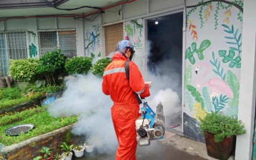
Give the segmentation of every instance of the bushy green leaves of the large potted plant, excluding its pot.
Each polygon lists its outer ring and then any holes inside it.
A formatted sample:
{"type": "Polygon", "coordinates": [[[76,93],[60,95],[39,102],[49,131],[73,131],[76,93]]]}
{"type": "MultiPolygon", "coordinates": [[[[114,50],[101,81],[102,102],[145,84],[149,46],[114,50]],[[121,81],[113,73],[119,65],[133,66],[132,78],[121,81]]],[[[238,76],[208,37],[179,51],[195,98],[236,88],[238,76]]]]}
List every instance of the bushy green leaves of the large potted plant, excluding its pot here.
{"type": "Polygon", "coordinates": [[[225,137],[246,134],[244,124],[236,117],[225,116],[220,113],[208,113],[204,119],[199,118],[202,134],[210,132],[215,137],[215,142],[220,143],[225,137]]]}

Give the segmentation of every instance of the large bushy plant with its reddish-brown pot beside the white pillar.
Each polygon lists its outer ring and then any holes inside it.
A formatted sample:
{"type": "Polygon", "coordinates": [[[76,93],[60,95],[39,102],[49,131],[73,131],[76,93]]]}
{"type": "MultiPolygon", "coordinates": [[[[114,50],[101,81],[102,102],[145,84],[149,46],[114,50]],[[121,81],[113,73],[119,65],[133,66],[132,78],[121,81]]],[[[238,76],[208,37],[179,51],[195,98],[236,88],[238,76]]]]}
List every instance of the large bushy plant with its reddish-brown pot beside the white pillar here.
{"type": "Polygon", "coordinates": [[[234,149],[236,135],[246,134],[244,124],[236,117],[220,113],[208,113],[199,118],[200,129],[205,136],[207,154],[217,159],[228,159],[234,149]]]}

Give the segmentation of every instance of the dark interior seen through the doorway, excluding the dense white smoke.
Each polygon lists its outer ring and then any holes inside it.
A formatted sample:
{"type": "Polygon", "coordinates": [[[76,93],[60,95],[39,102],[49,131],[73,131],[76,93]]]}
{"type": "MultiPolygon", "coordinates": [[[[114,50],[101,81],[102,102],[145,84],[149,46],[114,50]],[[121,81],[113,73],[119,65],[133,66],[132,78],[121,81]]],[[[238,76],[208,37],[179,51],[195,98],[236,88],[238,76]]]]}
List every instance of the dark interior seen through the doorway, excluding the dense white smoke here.
{"type": "MultiPolygon", "coordinates": [[[[155,76],[168,76],[170,87],[178,94],[181,102],[182,85],[182,49],[183,49],[183,12],[147,20],[147,41],[149,55],[147,69],[155,76]],[[155,22],[158,21],[158,24],[155,22]]],[[[171,95],[170,95],[171,96],[171,95]]],[[[168,127],[181,131],[181,104],[176,119],[168,127]]],[[[168,113],[167,113],[168,114],[168,113]]]]}

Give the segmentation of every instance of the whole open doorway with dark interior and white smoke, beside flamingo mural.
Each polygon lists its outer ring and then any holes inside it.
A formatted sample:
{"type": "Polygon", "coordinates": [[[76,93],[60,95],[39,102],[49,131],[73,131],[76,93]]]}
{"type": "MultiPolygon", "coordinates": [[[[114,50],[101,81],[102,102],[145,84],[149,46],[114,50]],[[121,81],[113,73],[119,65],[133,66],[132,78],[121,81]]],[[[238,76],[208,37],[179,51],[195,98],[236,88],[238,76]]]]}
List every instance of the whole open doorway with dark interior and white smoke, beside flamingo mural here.
{"type": "Polygon", "coordinates": [[[167,93],[159,99],[170,102],[163,104],[166,129],[182,132],[183,12],[149,18],[146,23],[147,71],[157,78],[154,85],[162,90],[157,92],[167,93]]]}

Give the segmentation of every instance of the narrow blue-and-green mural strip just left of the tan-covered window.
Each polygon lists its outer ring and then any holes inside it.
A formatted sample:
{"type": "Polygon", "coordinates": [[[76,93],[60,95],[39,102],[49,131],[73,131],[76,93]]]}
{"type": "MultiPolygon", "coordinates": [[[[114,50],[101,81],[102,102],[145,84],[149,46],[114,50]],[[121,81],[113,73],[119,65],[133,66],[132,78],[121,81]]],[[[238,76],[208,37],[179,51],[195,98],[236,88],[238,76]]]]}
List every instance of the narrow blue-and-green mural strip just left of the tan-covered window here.
{"type": "Polygon", "coordinates": [[[86,57],[101,57],[101,37],[99,23],[91,24],[85,33],[86,57]]]}

